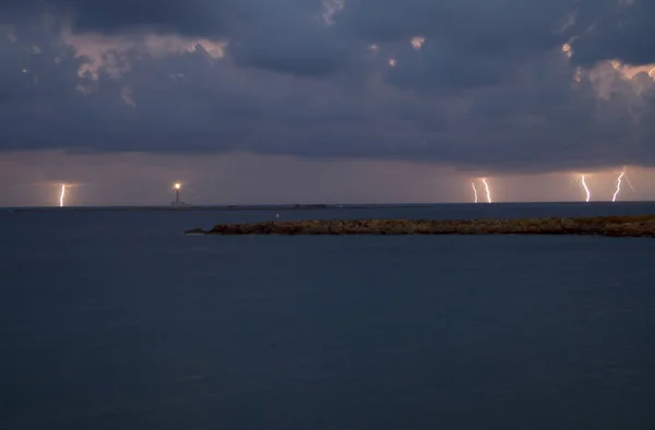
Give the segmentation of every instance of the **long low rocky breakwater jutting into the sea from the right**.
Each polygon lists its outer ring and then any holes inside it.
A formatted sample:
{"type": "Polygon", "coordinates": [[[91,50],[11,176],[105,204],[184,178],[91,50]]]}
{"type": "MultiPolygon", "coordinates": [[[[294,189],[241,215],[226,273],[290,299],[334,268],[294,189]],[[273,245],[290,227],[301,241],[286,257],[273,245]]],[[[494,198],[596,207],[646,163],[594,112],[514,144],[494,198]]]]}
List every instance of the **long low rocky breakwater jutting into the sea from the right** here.
{"type": "Polygon", "coordinates": [[[655,237],[655,215],[529,219],[332,219],[219,224],[199,235],[598,235],[655,237]]]}

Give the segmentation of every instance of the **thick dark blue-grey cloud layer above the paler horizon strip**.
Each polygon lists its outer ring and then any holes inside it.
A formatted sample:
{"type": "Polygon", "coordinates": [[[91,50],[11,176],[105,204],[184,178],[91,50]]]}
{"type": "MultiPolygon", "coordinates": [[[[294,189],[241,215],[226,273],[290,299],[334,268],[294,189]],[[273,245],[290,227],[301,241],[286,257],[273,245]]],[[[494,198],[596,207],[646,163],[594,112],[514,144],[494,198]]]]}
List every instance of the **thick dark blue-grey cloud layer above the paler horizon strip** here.
{"type": "Polygon", "coordinates": [[[653,13],[645,0],[4,1],[0,150],[655,166],[653,13]]]}

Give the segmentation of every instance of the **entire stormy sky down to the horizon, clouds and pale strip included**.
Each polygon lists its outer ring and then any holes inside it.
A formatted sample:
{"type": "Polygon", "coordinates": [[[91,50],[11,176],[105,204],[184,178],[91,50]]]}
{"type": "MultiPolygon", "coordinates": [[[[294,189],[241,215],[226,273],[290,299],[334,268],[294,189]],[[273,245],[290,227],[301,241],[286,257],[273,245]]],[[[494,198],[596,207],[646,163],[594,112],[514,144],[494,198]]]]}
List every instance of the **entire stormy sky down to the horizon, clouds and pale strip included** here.
{"type": "Polygon", "coordinates": [[[3,0],[0,205],[655,198],[646,0],[3,0]],[[74,198],[73,198],[74,196],[74,198]]]}

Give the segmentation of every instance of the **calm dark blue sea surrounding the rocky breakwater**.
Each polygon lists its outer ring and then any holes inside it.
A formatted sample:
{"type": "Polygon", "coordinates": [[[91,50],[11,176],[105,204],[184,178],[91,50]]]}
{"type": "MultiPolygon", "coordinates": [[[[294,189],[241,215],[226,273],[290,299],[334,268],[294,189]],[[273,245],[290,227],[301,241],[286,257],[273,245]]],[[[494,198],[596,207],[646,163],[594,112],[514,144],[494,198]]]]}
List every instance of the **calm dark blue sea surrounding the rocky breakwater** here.
{"type": "Polygon", "coordinates": [[[0,429],[654,429],[655,240],[186,236],[655,203],[0,210],[0,429]]]}

